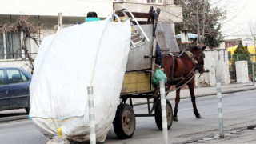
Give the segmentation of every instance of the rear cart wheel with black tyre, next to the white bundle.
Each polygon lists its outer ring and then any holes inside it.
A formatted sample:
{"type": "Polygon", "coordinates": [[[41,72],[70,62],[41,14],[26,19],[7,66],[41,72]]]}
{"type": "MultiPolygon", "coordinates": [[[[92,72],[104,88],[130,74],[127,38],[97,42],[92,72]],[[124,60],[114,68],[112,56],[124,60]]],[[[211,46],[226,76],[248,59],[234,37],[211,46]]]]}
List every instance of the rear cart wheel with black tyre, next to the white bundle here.
{"type": "Polygon", "coordinates": [[[114,133],[121,139],[131,138],[134,135],[135,125],[132,107],[127,104],[119,105],[113,122],[114,133]]]}

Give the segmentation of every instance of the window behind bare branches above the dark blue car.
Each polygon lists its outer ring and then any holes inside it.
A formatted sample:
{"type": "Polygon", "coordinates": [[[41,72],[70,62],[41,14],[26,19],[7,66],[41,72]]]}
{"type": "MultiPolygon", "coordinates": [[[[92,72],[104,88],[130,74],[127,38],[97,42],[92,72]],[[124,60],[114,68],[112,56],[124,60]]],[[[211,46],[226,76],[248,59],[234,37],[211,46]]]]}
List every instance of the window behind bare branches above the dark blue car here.
{"type": "MultiPolygon", "coordinates": [[[[0,59],[22,58],[22,38],[23,33],[19,32],[0,34],[0,59]]],[[[30,38],[26,40],[26,48],[31,51],[30,38]]]]}

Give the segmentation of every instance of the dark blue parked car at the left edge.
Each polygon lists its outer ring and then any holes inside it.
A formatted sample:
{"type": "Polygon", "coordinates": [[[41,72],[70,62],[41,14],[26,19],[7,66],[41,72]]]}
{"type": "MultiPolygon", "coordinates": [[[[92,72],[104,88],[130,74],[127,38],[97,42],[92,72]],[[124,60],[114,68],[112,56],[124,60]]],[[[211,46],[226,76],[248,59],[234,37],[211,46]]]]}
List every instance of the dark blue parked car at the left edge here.
{"type": "Polygon", "coordinates": [[[0,110],[30,109],[32,75],[22,68],[0,67],[0,110]]]}

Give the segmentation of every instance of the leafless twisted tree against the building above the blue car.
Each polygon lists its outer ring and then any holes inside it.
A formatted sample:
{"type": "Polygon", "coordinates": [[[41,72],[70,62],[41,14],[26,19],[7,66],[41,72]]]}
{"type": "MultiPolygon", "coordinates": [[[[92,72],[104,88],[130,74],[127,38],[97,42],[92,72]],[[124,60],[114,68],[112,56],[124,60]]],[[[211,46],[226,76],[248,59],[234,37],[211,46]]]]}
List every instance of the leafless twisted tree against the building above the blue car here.
{"type": "Polygon", "coordinates": [[[26,66],[29,66],[31,69],[31,73],[34,71],[34,58],[29,53],[29,50],[26,46],[26,41],[28,38],[33,40],[37,46],[39,46],[40,40],[40,29],[42,29],[42,24],[33,23],[29,21],[29,16],[20,16],[14,23],[6,22],[1,28],[1,33],[23,33],[22,44],[20,46],[20,50],[24,50],[25,58],[22,58],[22,54],[20,54],[22,60],[26,62],[26,66]],[[29,60],[29,63],[26,61],[29,60]]]}

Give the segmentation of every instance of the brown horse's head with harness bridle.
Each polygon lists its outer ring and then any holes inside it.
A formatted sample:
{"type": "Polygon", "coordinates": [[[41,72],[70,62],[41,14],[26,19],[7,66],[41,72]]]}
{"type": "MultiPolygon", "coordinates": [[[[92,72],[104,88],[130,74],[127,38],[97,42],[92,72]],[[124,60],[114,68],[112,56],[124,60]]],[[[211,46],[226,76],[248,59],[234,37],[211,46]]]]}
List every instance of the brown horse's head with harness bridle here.
{"type": "Polygon", "coordinates": [[[202,74],[205,71],[204,68],[204,61],[203,58],[205,58],[205,54],[203,53],[203,50],[206,49],[206,46],[203,46],[202,49],[198,48],[197,46],[190,48],[190,52],[194,55],[194,59],[198,61],[197,69],[200,74],[202,74]]]}

